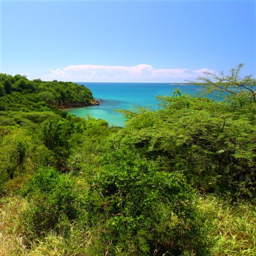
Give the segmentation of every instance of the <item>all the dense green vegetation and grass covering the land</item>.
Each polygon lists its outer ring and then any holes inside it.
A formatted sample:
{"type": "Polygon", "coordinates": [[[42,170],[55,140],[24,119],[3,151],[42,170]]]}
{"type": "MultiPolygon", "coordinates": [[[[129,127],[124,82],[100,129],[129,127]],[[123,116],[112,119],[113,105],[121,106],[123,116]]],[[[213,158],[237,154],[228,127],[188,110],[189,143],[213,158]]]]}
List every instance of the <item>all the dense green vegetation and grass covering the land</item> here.
{"type": "Polygon", "coordinates": [[[49,82],[14,77],[34,89],[8,91],[15,78],[1,75],[1,255],[254,255],[246,88],[223,102],[177,90],[158,97],[160,110],[122,110],[121,128],[54,108],[73,84],[51,82],[46,102],[35,96],[49,82]]]}

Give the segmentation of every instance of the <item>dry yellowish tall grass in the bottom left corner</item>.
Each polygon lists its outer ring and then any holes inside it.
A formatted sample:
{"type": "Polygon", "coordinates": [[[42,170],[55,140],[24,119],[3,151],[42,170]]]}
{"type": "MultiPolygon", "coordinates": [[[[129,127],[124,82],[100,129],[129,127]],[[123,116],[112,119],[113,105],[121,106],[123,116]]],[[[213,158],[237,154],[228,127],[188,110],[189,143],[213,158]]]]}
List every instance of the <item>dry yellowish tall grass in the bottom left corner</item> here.
{"type": "Polygon", "coordinates": [[[100,255],[101,230],[89,230],[79,224],[63,222],[63,232],[45,232],[38,238],[24,219],[29,210],[26,199],[18,196],[0,201],[0,256],[100,255]],[[69,230],[69,234],[66,234],[69,230]]]}

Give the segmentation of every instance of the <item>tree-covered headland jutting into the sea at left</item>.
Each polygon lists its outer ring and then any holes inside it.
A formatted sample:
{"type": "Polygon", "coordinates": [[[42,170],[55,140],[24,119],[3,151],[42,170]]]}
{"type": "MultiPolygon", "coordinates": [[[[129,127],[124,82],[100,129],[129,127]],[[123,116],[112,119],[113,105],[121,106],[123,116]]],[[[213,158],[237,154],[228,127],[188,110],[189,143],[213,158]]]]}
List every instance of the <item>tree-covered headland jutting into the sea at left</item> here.
{"type": "Polygon", "coordinates": [[[87,106],[92,104],[92,92],[71,82],[30,81],[22,75],[0,73],[0,111],[49,110],[51,106],[87,106]]]}

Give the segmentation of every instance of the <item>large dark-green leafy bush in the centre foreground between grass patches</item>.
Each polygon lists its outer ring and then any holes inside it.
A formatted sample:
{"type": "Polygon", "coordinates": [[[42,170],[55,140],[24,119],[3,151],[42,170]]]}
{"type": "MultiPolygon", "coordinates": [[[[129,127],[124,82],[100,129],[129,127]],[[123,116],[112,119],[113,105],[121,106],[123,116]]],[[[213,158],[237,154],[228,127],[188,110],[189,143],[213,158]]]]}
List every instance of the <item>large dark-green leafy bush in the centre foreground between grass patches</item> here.
{"type": "Polygon", "coordinates": [[[91,225],[104,226],[102,254],[207,252],[208,241],[191,204],[195,194],[181,174],[158,170],[125,147],[106,154],[103,163],[88,205],[91,225]]]}

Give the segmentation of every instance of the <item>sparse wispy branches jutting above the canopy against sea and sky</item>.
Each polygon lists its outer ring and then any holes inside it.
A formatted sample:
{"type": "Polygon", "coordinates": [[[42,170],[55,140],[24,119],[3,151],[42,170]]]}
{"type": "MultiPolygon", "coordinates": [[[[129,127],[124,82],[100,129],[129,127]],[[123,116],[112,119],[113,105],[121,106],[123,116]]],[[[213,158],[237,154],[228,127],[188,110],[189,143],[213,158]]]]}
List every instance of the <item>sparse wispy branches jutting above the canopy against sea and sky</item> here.
{"type": "Polygon", "coordinates": [[[248,102],[256,104],[256,85],[252,75],[241,77],[241,69],[244,64],[239,64],[237,67],[230,70],[230,75],[225,75],[212,72],[204,72],[205,77],[197,77],[198,82],[193,82],[199,86],[203,86],[204,95],[214,91],[227,92],[232,103],[238,102],[240,106],[244,106],[248,102]]]}

